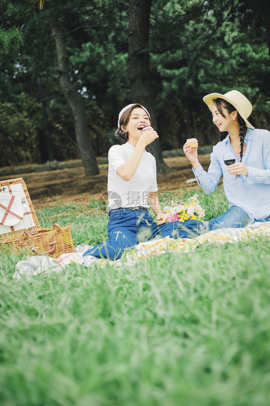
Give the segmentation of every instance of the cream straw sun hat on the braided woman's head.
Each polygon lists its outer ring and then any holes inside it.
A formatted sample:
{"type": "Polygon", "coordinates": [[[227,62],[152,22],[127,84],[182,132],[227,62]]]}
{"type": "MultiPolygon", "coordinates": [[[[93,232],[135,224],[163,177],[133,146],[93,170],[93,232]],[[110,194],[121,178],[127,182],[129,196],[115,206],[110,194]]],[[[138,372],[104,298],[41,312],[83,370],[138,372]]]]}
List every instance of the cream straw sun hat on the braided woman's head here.
{"type": "Polygon", "coordinates": [[[238,92],[237,90],[231,90],[230,92],[225,93],[225,95],[221,95],[220,93],[210,93],[209,95],[204,96],[203,100],[211,111],[214,105],[213,99],[217,98],[231,103],[245,121],[246,127],[254,129],[253,125],[247,121],[252,112],[252,105],[246,96],[242,95],[242,93],[238,92]]]}

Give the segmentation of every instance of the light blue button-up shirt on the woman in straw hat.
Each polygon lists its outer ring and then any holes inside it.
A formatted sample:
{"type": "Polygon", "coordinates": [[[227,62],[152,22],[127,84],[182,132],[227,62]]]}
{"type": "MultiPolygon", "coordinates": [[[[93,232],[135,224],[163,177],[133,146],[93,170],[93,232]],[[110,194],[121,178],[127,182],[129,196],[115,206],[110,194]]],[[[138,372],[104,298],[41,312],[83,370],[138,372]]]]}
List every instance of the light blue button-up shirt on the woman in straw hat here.
{"type": "MultiPolygon", "coordinates": [[[[213,147],[210,155],[211,163],[208,172],[202,166],[193,172],[198,184],[207,194],[212,193],[223,175],[223,186],[229,207],[241,207],[249,214],[250,222],[270,215],[270,132],[267,130],[251,130],[246,132],[246,151],[242,163],[249,169],[248,175],[229,174],[223,161],[223,154],[234,152],[229,134],[225,140],[213,147]]],[[[237,162],[237,160],[236,160],[237,162]]]]}

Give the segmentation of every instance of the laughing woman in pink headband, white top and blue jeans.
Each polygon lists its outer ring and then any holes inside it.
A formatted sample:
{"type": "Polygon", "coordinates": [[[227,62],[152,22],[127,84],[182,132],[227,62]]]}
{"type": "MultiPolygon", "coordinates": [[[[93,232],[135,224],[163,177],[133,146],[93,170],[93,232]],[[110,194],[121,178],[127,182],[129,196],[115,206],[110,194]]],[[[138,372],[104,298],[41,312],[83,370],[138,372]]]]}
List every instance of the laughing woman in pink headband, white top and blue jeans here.
{"type": "Polygon", "coordinates": [[[116,137],[122,145],[114,145],[109,150],[108,173],[108,236],[109,240],[94,246],[84,253],[95,257],[119,259],[125,248],[139,241],[152,238],[186,238],[199,233],[195,220],[179,222],[167,221],[163,214],[156,183],[156,160],[146,152],[158,134],[151,127],[150,114],[140,104],[129,104],[118,117],[116,137]],[[148,210],[156,214],[157,224],[148,210]]]}

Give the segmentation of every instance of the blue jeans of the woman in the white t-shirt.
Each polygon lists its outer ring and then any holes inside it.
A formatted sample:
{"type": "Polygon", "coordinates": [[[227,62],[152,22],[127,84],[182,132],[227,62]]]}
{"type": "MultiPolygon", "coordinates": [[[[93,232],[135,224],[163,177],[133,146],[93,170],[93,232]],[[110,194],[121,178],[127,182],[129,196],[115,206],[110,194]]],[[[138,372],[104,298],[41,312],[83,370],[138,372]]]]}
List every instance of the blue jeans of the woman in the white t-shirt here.
{"type": "Polygon", "coordinates": [[[84,253],[95,257],[119,259],[125,248],[130,248],[141,241],[152,238],[194,238],[205,232],[202,222],[186,220],[184,223],[174,221],[160,226],[156,225],[148,210],[125,210],[113,212],[107,225],[109,241],[102,242],[84,253]],[[204,230],[204,231],[202,231],[204,230]]]}

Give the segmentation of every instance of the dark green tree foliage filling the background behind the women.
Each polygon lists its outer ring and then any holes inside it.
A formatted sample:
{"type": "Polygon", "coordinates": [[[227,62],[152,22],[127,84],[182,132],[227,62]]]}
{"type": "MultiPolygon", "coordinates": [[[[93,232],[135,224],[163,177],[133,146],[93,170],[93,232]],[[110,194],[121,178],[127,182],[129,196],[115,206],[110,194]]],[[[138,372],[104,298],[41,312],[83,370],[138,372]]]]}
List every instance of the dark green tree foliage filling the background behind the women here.
{"type": "MultiPolygon", "coordinates": [[[[116,143],[118,112],[133,102],[128,71],[128,6],[128,2],[111,0],[0,2],[2,109],[8,108],[6,103],[14,104],[12,116],[4,112],[9,117],[10,125],[4,122],[9,138],[13,138],[13,127],[22,117],[32,120],[32,143],[42,138],[43,117],[41,111],[36,112],[37,79],[42,78],[56,159],[79,157],[50,35],[51,28],[59,23],[66,34],[70,78],[88,111],[94,151],[107,155],[116,143]],[[33,106],[28,108],[35,110],[34,115],[26,108],[22,114],[21,93],[30,95],[33,106]]],[[[211,114],[202,102],[202,97],[213,91],[241,91],[254,106],[251,122],[259,128],[270,128],[267,31],[260,13],[246,2],[153,0],[147,51],[162,149],[180,148],[186,138],[194,136],[200,138],[200,145],[220,140],[217,129],[209,130],[211,114]]],[[[22,128],[29,125],[23,123],[22,128]]],[[[33,162],[33,154],[24,145],[20,163],[33,162]]],[[[45,149],[40,142],[34,162],[47,160],[45,149]]]]}

